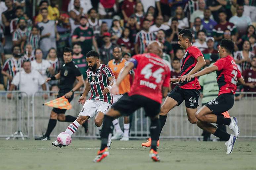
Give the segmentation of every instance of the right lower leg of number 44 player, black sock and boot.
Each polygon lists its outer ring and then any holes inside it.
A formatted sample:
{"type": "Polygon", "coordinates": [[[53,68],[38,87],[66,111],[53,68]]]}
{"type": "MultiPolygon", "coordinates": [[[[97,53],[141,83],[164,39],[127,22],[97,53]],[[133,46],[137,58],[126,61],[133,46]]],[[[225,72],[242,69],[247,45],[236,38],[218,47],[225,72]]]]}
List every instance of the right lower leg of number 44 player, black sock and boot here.
{"type": "Polygon", "coordinates": [[[149,157],[153,161],[160,161],[158,152],[156,151],[157,139],[160,132],[160,121],[157,117],[151,118],[150,135],[151,135],[151,149],[149,151],[149,157]]]}

